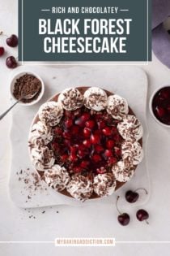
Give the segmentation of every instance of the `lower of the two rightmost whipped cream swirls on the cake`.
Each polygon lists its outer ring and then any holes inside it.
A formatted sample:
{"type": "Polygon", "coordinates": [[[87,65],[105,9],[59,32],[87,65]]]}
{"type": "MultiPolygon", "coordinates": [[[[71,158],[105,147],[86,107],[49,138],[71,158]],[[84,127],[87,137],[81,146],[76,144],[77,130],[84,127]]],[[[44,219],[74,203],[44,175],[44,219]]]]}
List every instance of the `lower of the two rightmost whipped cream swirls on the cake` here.
{"type": "Polygon", "coordinates": [[[132,165],[138,165],[143,158],[142,146],[138,141],[124,141],[121,144],[121,156],[124,161],[131,162],[132,165]]]}

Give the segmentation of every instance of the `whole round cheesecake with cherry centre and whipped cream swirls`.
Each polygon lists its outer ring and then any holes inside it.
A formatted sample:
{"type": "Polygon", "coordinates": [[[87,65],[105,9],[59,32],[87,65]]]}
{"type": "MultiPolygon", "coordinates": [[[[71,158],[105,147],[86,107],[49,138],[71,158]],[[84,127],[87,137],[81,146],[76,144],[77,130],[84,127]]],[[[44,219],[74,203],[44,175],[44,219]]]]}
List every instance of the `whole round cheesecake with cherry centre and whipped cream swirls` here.
{"type": "Polygon", "coordinates": [[[57,192],[84,202],[106,197],[142,161],[142,124],[121,96],[97,87],[65,89],[40,106],[29,149],[57,192]]]}

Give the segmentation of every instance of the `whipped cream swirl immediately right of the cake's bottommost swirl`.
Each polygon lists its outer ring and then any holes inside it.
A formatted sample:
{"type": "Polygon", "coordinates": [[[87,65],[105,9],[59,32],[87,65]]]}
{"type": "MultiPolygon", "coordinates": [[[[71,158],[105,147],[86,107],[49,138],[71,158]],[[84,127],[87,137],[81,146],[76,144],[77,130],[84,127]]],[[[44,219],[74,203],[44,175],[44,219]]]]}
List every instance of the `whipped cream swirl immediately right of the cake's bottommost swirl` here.
{"type": "Polygon", "coordinates": [[[115,191],[116,185],[113,173],[98,174],[93,182],[94,191],[100,197],[111,195],[115,191]]]}

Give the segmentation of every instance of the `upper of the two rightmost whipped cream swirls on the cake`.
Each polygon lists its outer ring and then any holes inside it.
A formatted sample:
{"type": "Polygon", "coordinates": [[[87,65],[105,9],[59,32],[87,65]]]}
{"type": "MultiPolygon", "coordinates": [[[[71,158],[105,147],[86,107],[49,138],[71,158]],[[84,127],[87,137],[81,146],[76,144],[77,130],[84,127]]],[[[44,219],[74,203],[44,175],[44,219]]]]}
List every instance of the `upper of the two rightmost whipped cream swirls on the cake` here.
{"type": "Polygon", "coordinates": [[[142,124],[135,115],[125,115],[117,129],[125,140],[140,140],[142,138],[142,124]]]}

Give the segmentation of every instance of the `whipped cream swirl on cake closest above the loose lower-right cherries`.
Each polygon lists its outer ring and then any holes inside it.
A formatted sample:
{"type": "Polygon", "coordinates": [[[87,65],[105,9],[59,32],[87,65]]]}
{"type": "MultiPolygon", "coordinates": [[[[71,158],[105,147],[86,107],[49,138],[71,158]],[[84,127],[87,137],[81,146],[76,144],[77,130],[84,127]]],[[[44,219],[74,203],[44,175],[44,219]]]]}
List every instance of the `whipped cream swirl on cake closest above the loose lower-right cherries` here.
{"type": "Polygon", "coordinates": [[[134,176],[134,166],[122,160],[113,165],[112,171],[116,180],[120,182],[126,182],[134,176]]]}

